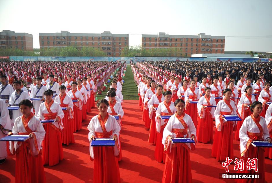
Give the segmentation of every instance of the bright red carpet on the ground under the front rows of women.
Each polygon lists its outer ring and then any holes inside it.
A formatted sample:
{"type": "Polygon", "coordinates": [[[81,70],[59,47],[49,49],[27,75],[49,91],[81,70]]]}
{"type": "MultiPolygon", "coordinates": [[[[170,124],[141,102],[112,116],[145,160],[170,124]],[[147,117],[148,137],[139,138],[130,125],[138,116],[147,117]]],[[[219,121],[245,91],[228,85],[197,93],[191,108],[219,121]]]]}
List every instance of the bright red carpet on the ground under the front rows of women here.
{"type": "MultiPolygon", "coordinates": [[[[148,143],[148,132],[141,121],[142,112],[137,100],[125,100],[125,116],[122,119],[122,161],[120,176],[122,182],[161,182],[164,164],[154,158],[155,146],[148,143]]],[[[82,129],[74,133],[75,144],[63,146],[64,160],[54,167],[45,166],[47,182],[92,182],[93,162],[89,159],[89,142],[87,125],[98,110],[92,109],[88,119],[84,120],[82,129]]],[[[239,157],[238,141],[234,142],[234,156],[239,157]]],[[[198,143],[196,150],[190,152],[193,182],[234,182],[219,179],[219,173],[225,168],[211,157],[212,144],[198,143]]],[[[230,173],[235,173],[233,164],[230,173]]],[[[265,180],[272,182],[272,161],[265,159],[265,180]]],[[[0,182],[14,182],[15,157],[9,157],[0,165],[0,182]]]]}

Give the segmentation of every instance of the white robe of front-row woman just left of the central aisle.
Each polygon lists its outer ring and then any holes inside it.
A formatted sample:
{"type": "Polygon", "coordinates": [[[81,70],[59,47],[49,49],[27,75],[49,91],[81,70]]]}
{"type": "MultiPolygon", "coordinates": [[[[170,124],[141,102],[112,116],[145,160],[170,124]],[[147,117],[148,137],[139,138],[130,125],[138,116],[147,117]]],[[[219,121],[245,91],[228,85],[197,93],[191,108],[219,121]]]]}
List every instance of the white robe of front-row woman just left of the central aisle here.
{"type": "MultiPolygon", "coordinates": [[[[95,132],[103,133],[102,127],[101,127],[100,122],[98,120],[98,115],[93,116],[93,118],[91,119],[87,128],[90,131],[88,134],[88,139],[90,142],[90,157],[92,159],[94,159],[95,157],[93,154],[93,146],[91,146],[91,138],[92,138],[92,136],[97,138],[95,135],[95,132]]],[[[113,136],[116,135],[117,139],[119,139],[121,128],[120,128],[120,125],[118,124],[118,122],[116,121],[114,116],[109,115],[109,118],[107,119],[107,121],[105,123],[105,128],[106,128],[107,132],[112,131],[112,135],[110,135],[110,138],[113,138],[113,136]]],[[[118,140],[118,143],[119,143],[119,140],[118,140]]],[[[117,144],[115,144],[115,146],[114,146],[114,155],[115,156],[118,156],[118,154],[119,154],[118,147],[120,147],[120,145],[117,146],[117,144]]]]}

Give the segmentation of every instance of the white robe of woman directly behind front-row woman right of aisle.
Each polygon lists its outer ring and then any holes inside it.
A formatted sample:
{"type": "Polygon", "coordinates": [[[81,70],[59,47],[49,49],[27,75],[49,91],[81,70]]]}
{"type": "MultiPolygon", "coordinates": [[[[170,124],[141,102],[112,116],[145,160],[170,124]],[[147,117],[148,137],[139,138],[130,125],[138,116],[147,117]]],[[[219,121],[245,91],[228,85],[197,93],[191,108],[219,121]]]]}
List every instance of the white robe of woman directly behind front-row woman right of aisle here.
{"type": "MultiPolygon", "coordinates": [[[[174,112],[177,111],[176,107],[174,106],[174,102],[172,102],[172,101],[171,101],[171,104],[170,104],[169,108],[170,108],[170,110],[171,110],[171,112],[173,114],[174,114],[174,112]]],[[[161,126],[166,123],[165,119],[159,118],[159,116],[163,116],[163,115],[161,115],[162,112],[163,113],[169,113],[168,110],[167,110],[167,108],[164,105],[164,102],[159,103],[158,109],[156,111],[156,116],[155,116],[156,129],[157,129],[158,133],[161,132],[161,126]]]]}

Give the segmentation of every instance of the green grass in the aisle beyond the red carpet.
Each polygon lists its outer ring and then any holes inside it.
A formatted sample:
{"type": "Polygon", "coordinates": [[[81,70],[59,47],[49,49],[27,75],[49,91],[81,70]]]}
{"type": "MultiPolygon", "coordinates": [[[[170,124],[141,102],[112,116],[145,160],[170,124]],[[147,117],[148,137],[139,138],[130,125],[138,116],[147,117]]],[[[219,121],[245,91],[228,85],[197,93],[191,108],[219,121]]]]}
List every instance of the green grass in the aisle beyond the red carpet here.
{"type": "MultiPolygon", "coordinates": [[[[138,89],[137,89],[137,86],[135,85],[134,76],[133,76],[130,65],[126,66],[124,81],[125,82],[122,87],[123,88],[122,94],[123,94],[124,100],[138,100],[139,99],[138,89]]],[[[107,88],[109,87],[110,87],[110,83],[107,83],[107,88]]],[[[107,91],[108,90],[106,89],[105,91],[102,92],[102,95],[96,95],[98,100],[104,99],[107,91]]]]}

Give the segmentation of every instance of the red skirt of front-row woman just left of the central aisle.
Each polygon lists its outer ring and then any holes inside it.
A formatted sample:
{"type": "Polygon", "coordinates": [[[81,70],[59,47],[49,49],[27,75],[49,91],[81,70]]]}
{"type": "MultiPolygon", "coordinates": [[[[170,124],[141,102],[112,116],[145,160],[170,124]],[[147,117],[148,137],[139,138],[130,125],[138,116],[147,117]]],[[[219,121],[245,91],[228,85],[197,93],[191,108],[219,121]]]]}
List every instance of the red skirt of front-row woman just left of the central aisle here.
{"type": "Polygon", "coordinates": [[[117,157],[114,156],[113,147],[94,147],[93,155],[93,182],[121,182],[119,164],[117,157]]]}

